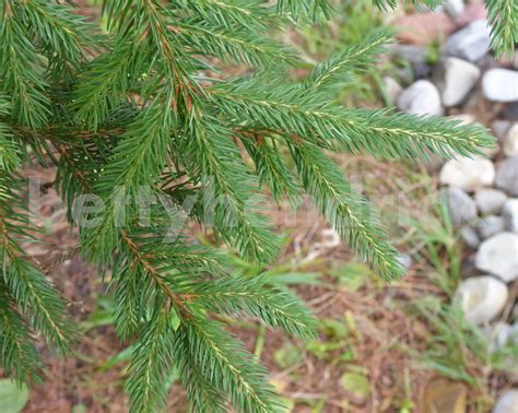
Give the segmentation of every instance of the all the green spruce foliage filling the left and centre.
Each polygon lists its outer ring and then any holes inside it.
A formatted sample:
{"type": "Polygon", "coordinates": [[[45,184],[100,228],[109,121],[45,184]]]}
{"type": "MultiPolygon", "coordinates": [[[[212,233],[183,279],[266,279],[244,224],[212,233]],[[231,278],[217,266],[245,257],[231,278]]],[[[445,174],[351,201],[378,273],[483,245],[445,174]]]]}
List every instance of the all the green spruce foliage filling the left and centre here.
{"type": "MultiPolygon", "coordinates": [[[[501,3],[491,0],[490,10],[501,3]]],[[[499,51],[516,40],[507,3],[491,13],[499,51]]],[[[0,0],[1,367],[37,381],[36,337],[73,349],[63,298],[23,249],[38,239],[21,173],[35,162],[57,166],[81,251],[109,272],[117,331],[133,343],[132,411],[164,406],[173,369],[195,411],[281,409],[267,371],[213,315],[249,315],[302,339],[314,335],[315,321],[267,274],[235,276],[217,249],[189,240],[179,229],[186,214],[243,257],[268,263],[279,240],[259,212],[261,193],[296,204],[306,192],[364,260],[393,279],[396,250],[327,153],[469,155],[491,138],[450,120],[335,104],[333,91],[390,42],[385,32],[293,81],[297,55],[275,34],[329,15],[327,0],[109,0],[105,31],[73,7],[0,0]],[[222,62],[247,70],[229,76],[222,62]],[[145,220],[136,202],[142,193],[152,200],[145,220]],[[84,196],[103,208],[81,209],[84,196]]]]}

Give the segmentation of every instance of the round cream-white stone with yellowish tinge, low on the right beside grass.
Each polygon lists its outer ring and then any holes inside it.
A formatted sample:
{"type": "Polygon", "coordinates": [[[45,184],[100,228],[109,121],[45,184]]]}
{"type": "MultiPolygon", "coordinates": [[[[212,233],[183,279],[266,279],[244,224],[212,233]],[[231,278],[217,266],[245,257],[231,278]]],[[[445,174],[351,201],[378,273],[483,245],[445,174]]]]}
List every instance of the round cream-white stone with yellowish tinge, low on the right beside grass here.
{"type": "Polygon", "coordinates": [[[509,296],[507,286],[490,275],[463,280],[455,292],[454,300],[460,305],[466,318],[483,324],[494,319],[509,296]]]}

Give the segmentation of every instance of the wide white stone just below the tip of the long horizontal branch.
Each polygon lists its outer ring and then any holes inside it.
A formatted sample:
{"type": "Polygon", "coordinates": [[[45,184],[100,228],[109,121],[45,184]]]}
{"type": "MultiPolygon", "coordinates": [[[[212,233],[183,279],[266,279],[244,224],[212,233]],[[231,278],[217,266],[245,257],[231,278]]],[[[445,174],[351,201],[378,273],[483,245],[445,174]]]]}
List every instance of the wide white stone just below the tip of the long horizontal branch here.
{"type": "Polygon", "coordinates": [[[495,167],[484,157],[459,157],[448,161],[440,169],[439,181],[454,188],[474,191],[491,187],[495,180],[495,167]]]}

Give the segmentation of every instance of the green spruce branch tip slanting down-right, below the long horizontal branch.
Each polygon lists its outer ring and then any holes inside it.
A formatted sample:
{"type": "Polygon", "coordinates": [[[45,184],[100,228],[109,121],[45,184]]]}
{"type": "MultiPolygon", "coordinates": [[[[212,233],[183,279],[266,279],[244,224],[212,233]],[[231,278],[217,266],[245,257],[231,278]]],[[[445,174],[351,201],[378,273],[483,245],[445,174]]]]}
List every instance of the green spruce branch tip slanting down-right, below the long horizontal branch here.
{"type": "Polygon", "coordinates": [[[368,203],[354,193],[338,166],[310,143],[298,142],[291,149],[304,188],[320,212],[329,214],[332,227],[381,276],[399,278],[402,269],[397,251],[388,244],[368,203]]]}

